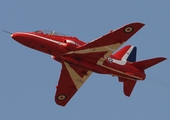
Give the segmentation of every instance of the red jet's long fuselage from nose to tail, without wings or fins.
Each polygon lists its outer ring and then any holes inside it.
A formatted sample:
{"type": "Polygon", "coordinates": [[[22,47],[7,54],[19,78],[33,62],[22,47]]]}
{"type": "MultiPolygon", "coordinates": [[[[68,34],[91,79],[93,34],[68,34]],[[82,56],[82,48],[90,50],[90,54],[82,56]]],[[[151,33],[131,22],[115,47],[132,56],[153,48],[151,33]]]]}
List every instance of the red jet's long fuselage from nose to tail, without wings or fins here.
{"type": "Polygon", "coordinates": [[[11,37],[29,48],[52,55],[52,58],[58,62],[64,60],[65,62],[100,74],[110,74],[132,80],[145,79],[143,70],[135,68],[131,62],[114,58],[113,55],[107,58],[102,64],[100,64],[100,61],[96,63],[92,59],[88,59],[88,57],[87,59],[61,57],[61,55],[74,51],[76,48],[86,44],[76,37],[59,35],[54,31],[16,32],[13,33],[11,37]]]}

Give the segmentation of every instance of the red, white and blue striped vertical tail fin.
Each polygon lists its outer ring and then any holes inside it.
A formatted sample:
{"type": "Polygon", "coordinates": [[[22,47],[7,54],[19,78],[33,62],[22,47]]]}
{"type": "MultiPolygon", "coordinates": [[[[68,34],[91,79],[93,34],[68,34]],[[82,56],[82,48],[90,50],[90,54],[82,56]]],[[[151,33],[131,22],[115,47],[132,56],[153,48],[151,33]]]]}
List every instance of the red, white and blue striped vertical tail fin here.
{"type": "Polygon", "coordinates": [[[127,45],[116,52],[113,56],[117,59],[136,62],[136,51],[137,48],[135,46],[127,45]]]}

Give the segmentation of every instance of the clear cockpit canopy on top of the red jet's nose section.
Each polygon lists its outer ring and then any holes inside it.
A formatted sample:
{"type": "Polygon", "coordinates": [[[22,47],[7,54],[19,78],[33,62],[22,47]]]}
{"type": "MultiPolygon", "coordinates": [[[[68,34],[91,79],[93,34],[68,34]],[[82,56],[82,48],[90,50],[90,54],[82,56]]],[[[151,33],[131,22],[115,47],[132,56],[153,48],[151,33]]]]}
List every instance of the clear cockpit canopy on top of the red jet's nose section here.
{"type": "Polygon", "coordinates": [[[68,36],[68,35],[65,35],[65,34],[62,34],[56,31],[52,31],[52,30],[37,30],[35,32],[39,34],[45,34],[45,35],[68,36]]]}

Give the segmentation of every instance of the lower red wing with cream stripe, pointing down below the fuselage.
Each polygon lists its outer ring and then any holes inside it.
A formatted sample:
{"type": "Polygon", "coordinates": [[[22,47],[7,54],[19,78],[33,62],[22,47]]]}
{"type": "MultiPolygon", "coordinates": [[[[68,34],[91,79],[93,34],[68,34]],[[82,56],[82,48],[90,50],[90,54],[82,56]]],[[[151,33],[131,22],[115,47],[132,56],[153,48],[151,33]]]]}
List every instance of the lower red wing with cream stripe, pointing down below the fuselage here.
{"type": "Polygon", "coordinates": [[[83,83],[88,79],[91,73],[91,71],[84,68],[63,62],[61,75],[55,94],[55,102],[58,105],[65,106],[83,85],[83,83]]]}

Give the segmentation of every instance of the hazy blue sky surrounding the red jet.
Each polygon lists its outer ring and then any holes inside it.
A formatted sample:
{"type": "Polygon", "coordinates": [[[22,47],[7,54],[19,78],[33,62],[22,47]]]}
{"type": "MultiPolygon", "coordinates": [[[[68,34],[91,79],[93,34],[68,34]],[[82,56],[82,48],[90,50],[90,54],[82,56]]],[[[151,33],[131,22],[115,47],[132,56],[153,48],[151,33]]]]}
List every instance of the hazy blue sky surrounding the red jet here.
{"type": "Polygon", "coordinates": [[[130,98],[117,77],[92,74],[65,107],[54,102],[61,65],[0,32],[0,120],[169,120],[169,0],[1,0],[0,29],[56,30],[89,42],[132,22],[137,60],[165,56],[130,98]]]}

